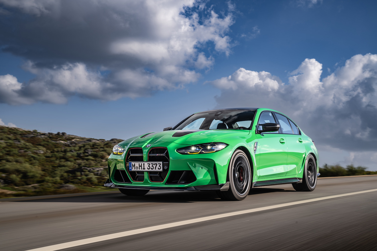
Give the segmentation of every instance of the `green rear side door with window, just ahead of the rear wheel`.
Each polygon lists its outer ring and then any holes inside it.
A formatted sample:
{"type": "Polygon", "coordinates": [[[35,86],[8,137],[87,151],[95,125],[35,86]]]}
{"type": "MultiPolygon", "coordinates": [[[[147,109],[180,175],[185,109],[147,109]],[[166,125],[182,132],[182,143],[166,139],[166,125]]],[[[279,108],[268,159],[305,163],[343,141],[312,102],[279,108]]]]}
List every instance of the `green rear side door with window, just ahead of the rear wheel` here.
{"type": "Polygon", "coordinates": [[[279,121],[280,130],[284,134],[287,142],[288,158],[287,173],[285,175],[296,175],[300,172],[305,157],[305,146],[300,131],[290,119],[282,114],[275,113],[275,117],[279,121]]]}

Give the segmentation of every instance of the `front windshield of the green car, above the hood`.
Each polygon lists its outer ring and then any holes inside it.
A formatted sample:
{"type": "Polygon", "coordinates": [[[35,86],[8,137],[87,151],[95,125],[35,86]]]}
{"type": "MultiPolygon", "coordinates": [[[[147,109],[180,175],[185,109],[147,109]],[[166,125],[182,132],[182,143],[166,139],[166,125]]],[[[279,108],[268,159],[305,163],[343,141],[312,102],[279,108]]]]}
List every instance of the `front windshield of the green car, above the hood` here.
{"type": "Polygon", "coordinates": [[[174,130],[249,129],[255,111],[222,110],[196,113],[174,130]]]}

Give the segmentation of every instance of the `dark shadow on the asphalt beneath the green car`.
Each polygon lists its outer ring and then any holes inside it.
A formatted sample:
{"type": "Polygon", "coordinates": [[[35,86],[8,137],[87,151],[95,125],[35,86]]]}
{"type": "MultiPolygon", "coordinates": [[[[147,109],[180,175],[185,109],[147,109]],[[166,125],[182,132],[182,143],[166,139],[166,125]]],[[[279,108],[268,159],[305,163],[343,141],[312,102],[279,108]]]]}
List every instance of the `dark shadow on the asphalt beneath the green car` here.
{"type": "MultiPolygon", "coordinates": [[[[249,195],[273,192],[293,192],[276,188],[253,188],[249,195]]],[[[158,202],[158,203],[192,203],[201,201],[222,201],[215,191],[150,191],[144,196],[126,196],[122,193],[107,193],[99,195],[82,195],[59,198],[30,199],[15,202],[92,202],[92,203],[135,203],[135,202],[158,202]]]]}

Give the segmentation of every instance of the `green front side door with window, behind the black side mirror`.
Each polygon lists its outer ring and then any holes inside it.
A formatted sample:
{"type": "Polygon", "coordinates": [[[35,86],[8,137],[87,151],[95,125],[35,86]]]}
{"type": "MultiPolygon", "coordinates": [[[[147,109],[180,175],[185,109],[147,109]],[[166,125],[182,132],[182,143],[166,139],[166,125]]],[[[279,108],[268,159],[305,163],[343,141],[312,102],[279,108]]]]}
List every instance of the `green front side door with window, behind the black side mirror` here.
{"type": "MultiPolygon", "coordinates": [[[[258,119],[258,125],[276,122],[273,113],[265,111],[258,119]]],[[[259,126],[257,126],[259,127],[259,126]]],[[[287,144],[285,136],[279,132],[256,134],[258,145],[255,152],[259,179],[275,178],[287,173],[287,144]]]]}

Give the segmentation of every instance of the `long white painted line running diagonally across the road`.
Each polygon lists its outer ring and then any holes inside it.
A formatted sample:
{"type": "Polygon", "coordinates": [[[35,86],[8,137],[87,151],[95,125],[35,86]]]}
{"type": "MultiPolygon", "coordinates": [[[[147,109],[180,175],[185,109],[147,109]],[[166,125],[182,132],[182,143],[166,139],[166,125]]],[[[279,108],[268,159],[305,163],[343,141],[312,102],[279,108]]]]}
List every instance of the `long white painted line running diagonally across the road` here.
{"type": "Polygon", "coordinates": [[[139,228],[139,229],[119,232],[119,233],[115,233],[115,234],[106,234],[106,235],[103,235],[103,236],[97,236],[97,237],[92,237],[92,238],[87,238],[87,239],[82,239],[82,240],[74,240],[72,242],[65,242],[65,243],[60,243],[60,244],[56,244],[56,245],[45,246],[45,247],[42,247],[42,248],[29,249],[29,250],[26,250],[26,251],[55,251],[55,250],[60,250],[60,249],[64,249],[64,248],[73,248],[75,246],[86,245],[86,244],[90,244],[90,243],[94,243],[94,242],[101,242],[101,241],[104,241],[104,240],[111,240],[111,239],[115,239],[115,238],[131,236],[131,235],[135,235],[135,234],[147,233],[147,232],[150,232],[150,231],[156,231],[156,230],[161,230],[161,229],[166,229],[166,228],[171,228],[171,227],[178,227],[178,226],[183,226],[183,225],[188,225],[188,224],[193,224],[193,223],[198,223],[198,222],[203,222],[203,221],[210,221],[210,220],[225,218],[225,217],[229,217],[229,216],[235,216],[235,215],[240,215],[240,214],[245,214],[245,213],[254,213],[254,212],[270,210],[270,209],[274,209],[274,208],[288,207],[288,206],[291,206],[291,205],[304,204],[304,203],[314,202],[314,201],[323,201],[325,199],[333,199],[333,198],[356,195],[356,194],[360,194],[360,193],[376,192],[376,191],[377,191],[377,189],[371,189],[371,190],[364,190],[364,191],[360,191],[360,192],[343,193],[343,194],[340,194],[340,195],[331,195],[331,196],[320,197],[320,198],[315,198],[315,199],[305,199],[303,201],[295,201],[295,202],[289,202],[289,203],[284,203],[284,204],[272,205],[272,206],[268,206],[268,207],[259,207],[259,208],[247,209],[247,210],[236,211],[236,212],[231,212],[231,213],[222,213],[222,214],[217,214],[217,215],[212,215],[212,216],[190,219],[190,220],[186,220],[186,221],[178,221],[178,222],[173,222],[173,223],[168,223],[168,224],[157,225],[157,226],[153,226],[153,227],[139,228]]]}

